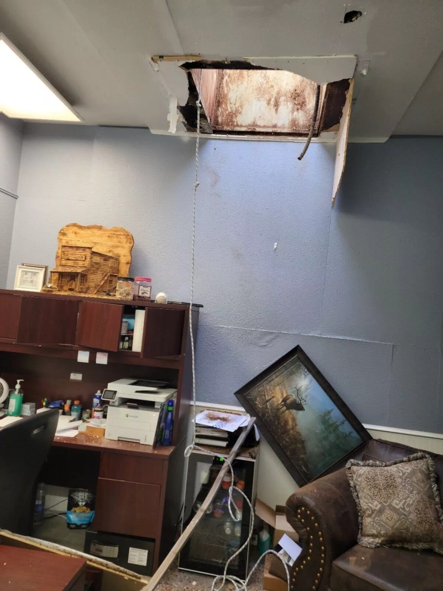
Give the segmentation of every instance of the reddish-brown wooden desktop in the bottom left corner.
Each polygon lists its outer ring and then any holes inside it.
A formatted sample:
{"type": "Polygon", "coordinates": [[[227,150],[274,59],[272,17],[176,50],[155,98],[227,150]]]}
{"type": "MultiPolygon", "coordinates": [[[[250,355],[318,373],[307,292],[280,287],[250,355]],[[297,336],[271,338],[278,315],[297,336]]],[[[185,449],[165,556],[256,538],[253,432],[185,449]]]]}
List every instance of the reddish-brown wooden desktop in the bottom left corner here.
{"type": "Polygon", "coordinates": [[[85,573],[82,558],[0,544],[0,589],[83,591],[85,573]]]}

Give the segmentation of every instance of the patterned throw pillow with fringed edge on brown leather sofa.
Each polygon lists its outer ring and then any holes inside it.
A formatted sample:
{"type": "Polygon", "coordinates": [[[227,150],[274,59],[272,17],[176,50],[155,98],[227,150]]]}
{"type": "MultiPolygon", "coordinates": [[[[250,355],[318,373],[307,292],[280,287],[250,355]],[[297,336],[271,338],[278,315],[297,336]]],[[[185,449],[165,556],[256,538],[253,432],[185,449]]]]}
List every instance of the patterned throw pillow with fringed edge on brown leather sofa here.
{"type": "Polygon", "coordinates": [[[443,554],[443,511],[428,454],[387,463],[349,460],[346,471],[359,512],[360,545],[443,554]]]}

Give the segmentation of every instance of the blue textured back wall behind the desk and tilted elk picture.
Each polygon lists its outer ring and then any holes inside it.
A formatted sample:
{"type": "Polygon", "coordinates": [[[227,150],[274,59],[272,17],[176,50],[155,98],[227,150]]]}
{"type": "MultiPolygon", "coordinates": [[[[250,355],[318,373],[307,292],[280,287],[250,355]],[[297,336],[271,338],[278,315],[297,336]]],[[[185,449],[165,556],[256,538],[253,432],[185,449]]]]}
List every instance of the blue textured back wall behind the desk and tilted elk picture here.
{"type": "MultiPolygon", "coordinates": [[[[53,265],[66,223],[121,225],[133,274],[187,301],[194,141],[27,125],[8,283],[53,265]]],[[[197,397],[233,392],[298,343],[364,423],[442,430],[443,139],[334,147],[202,141],[197,397]],[[274,243],[277,247],[274,250],[274,243]]]]}

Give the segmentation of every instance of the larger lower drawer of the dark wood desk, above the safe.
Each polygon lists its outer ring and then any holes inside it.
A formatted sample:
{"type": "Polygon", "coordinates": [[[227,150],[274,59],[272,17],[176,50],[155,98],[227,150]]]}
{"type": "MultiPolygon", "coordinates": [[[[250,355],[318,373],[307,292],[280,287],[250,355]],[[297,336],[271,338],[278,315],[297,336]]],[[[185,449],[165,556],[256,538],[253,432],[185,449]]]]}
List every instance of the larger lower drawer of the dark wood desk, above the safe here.
{"type": "Polygon", "coordinates": [[[157,534],[161,486],[99,478],[96,530],[153,538],[157,534]]]}

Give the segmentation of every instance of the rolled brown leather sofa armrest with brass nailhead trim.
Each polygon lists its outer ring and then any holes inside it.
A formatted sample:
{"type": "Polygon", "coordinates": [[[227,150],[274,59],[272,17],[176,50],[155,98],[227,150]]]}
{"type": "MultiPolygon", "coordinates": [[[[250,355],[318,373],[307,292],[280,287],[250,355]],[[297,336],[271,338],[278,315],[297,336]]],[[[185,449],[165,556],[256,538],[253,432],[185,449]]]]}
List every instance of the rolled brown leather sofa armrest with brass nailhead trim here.
{"type": "Polygon", "coordinates": [[[303,486],[286,501],[286,518],[302,544],[291,590],[327,591],[333,560],[357,543],[359,518],[346,469],[303,486]]]}

